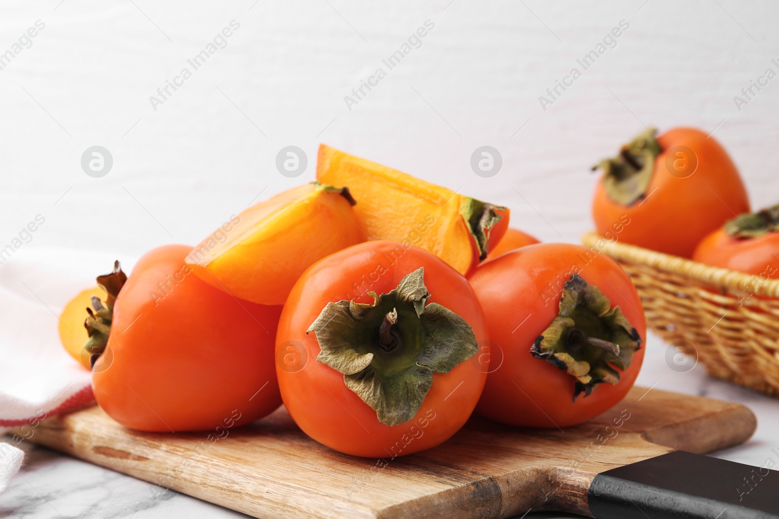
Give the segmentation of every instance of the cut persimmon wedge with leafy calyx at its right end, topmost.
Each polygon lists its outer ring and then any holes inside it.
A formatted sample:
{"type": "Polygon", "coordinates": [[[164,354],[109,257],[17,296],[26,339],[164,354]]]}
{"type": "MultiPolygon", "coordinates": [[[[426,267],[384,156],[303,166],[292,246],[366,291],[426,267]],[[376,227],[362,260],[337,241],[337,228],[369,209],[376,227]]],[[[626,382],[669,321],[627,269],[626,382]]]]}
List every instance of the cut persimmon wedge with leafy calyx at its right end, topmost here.
{"type": "Polygon", "coordinates": [[[509,226],[509,210],[319,146],[316,178],[348,185],[369,240],[391,240],[432,252],[466,275],[487,257],[509,226]]]}

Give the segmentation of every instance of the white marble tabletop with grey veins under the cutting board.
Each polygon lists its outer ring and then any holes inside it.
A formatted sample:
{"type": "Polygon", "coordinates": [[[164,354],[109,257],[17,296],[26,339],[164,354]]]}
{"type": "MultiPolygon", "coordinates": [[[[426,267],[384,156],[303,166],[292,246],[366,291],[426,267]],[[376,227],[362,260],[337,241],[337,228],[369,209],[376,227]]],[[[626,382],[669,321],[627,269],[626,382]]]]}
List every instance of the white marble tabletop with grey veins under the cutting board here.
{"type": "MultiPolygon", "coordinates": [[[[702,366],[678,373],[666,364],[659,338],[650,337],[639,384],[689,395],[740,402],[758,418],[755,435],[746,444],[714,453],[718,458],[762,465],[779,450],[779,399],[707,377],[702,366]]],[[[26,466],[5,493],[0,494],[0,517],[55,519],[58,517],[115,517],[116,519],[175,519],[178,517],[246,517],[226,508],[139,481],[33,445],[26,466]]],[[[530,512],[526,519],[578,517],[530,512]]]]}

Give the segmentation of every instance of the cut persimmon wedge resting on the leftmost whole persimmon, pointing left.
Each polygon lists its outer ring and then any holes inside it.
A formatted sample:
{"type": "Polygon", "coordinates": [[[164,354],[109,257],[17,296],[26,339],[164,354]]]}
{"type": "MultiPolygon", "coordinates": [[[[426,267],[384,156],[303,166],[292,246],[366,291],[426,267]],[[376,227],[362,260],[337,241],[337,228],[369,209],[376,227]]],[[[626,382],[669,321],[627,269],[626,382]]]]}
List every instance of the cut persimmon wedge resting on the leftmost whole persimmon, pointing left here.
{"type": "Polygon", "coordinates": [[[235,297],[284,304],[310,265],[365,241],[347,188],[305,184],[252,205],[192,249],[186,263],[235,297]]]}

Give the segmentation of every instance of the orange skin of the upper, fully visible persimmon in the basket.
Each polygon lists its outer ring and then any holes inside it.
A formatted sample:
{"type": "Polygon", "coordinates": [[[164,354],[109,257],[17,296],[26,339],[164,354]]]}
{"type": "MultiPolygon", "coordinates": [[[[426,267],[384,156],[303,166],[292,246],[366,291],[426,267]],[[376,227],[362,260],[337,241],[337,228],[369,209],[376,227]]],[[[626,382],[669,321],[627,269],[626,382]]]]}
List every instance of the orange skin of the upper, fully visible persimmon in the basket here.
{"type": "Polygon", "coordinates": [[[593,219],[601,235],[623,225],[619,239],[628,244],[690,258],[708,233],[749,212],[749,198],[733,161],[713,137],[695,128],[674,128],[657,141],[663,151],[655,159],[644,197],[629,206],[613,202],[601,177],[593,219]],[[686,146],[697,156],[697,168],[689,177],[674,176],[668,169],[666,156],[675,146],[686,146]]]}

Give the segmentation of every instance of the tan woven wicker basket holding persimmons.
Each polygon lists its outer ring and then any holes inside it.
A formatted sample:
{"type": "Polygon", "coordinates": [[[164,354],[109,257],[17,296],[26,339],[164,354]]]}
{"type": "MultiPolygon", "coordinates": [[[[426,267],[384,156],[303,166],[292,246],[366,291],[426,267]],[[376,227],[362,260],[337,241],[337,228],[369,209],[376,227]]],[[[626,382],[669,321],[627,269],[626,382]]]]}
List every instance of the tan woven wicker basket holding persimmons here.
{"type": "Polygon", "coordinates": [[[779,396],[779,279],[609,242],[595,233],[582,240],[625,268],[650,330],[696,356],[714,377],[779,396]]]}

